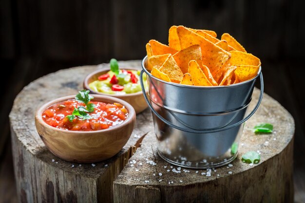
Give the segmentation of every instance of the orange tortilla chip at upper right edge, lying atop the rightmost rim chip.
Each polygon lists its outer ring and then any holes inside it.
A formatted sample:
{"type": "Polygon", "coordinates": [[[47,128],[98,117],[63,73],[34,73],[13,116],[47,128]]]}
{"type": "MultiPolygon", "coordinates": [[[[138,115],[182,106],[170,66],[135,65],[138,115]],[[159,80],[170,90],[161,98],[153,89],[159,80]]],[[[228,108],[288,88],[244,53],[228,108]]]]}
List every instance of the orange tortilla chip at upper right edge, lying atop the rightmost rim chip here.
{"type": "Polygon", "coordinates": [[[230,51],[230,54],[231,65],[251,65],[257,67],[261,65],[260,59],[254,55],[239,51],[230,51]]]}

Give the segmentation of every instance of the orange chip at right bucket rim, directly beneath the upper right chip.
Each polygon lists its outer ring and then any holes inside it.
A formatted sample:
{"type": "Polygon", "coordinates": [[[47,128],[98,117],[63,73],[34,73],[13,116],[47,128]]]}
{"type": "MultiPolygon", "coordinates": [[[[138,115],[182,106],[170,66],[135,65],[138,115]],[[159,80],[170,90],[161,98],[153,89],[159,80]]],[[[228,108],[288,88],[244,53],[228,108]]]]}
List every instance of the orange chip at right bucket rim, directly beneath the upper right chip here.
{"type": "Polygon", "coordinates": [[[234,71],[240,82],[244,82],[255,77],[259,71],[259,66],[235,65],[237,68],[234,71]]]}

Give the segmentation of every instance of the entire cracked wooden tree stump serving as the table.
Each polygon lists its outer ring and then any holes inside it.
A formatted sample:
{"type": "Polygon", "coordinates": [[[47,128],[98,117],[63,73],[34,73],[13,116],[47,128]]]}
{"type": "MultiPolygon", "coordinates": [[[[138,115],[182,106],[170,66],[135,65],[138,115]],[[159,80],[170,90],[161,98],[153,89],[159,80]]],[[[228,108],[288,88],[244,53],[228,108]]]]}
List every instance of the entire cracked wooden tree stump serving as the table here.
{"type": "MultiPolygon", "coordinates": [[[[119,64],[120,67],[140,68],[140,61],[119,64]]],[[[149,110],[137,115],[130,140],[107,161],[79,166],[54,156],[35,128],[36,109],[56,97],[76,94],[82,89],[87,74],[105,66],[109,65],[77,67],[46,75],[29,84],[16,97],[10,124],[19,202],[292,202],[294,121],[266,94],[259,110],[246,123],[233,166],[213,169],[210,177],[202,175],[206,170],[196,173],[197,170],[184,172],[181,168],[181,173],[172,172],[173,168],[178,170],[177,166],[171,167],[156,153],[149,110]],[[262,122],[272,123],[274,133],[255,135],[250,130],[262,122]],[[241,155],[249,150],[261,152],[258,165],[249,166],[240,161],[241,155]],[[150,161],[156,165],[150,165],[150,161]]],[[[257,96],[258,91],[254,90],[253,102],[257,96]]]]}

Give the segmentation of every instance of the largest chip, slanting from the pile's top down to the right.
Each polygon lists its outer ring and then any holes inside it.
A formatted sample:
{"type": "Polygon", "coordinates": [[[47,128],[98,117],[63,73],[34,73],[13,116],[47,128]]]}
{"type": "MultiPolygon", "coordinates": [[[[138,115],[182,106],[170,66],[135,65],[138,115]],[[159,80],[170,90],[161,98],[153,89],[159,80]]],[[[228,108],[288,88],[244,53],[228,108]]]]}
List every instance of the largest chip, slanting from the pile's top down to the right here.
{"type": "Polygon", "coordinates": [[[212,73],[220,69],[230,58],[229,52],[226,52],[206,38],[197,35],[183,26],[177,27],[177,35],[180,40],[181,49],[185,49],[194,44],[200,45],[202,62],[210,68],[212,73]]]}

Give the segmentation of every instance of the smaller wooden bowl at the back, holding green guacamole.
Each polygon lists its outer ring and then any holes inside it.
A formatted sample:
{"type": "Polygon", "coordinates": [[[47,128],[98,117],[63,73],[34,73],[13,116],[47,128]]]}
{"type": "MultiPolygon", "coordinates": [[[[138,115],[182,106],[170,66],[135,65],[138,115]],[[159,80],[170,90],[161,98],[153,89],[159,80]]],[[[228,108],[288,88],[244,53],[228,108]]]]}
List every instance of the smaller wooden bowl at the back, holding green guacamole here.
{"type": "MultiPolygon", "coordinates": [[[[138,69],[134,69],[134,68],[124,68],[124,69],[138,71],[138,69]]],[[[83,82],[84,89],[89,90],[91,93],[94,93],[94,94],[113,96],[113,97],[122,99],[133,106],[135,113],[140,113],[140,112],[144,111],[148,107],[148,105],[144,99],[142,91],[136,92],[136,93],[124,94],[124,95],[114,95],[114,94],[107,94],[107,93],[102,93],[102,92],[95,92],[94,90],[92,90],[89,87],[89,84],[91,82],[94,82],[95,80],[97,80],[98,76],[100,76],[101,74],[106,74],[108,71],[110,71],[109,68],[104,68],[104,69],[95,71],[95,72],[87,75],[87,77],[85,78],[85,80],[83,82]]],[[[147,91],[146,91],[146,93],[147,93],[147,91]]]]}

